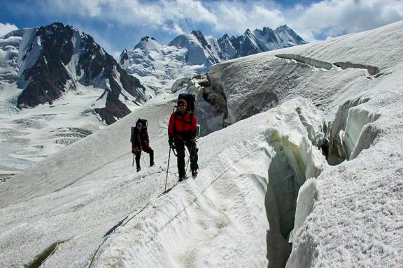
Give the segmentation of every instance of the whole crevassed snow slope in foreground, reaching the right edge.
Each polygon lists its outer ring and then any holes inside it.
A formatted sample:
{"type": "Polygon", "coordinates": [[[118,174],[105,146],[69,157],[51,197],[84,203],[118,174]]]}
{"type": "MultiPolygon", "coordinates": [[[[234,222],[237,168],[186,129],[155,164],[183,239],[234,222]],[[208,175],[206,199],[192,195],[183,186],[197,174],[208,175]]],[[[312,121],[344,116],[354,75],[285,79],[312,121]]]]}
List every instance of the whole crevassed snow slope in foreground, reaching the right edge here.
{"type": "Polygon", "coordinates": [[[402,29],[212,66],[230,126],[199,140],[198,177],[167,195],[164,93],[6,181],[1,267],[399,267],[402,29]],[[157,163],[139,173],[136,117],[157,163]]]}

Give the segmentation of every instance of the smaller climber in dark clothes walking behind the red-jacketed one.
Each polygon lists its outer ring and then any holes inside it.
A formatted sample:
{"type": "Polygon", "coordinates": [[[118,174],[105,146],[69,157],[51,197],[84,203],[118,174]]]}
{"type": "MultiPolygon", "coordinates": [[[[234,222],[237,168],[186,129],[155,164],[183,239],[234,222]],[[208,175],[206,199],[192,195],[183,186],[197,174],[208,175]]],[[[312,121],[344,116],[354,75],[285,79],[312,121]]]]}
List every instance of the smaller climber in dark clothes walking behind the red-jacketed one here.
{"type": "Polygon", "coordinates": [[[150,154],[150,167],[154,165],[154,150],[150,147],[150,140],[148,138],[148,133],[143,129],[143,124],[138,122],[136,128],[134,129],[134,135],[132,136],[132,153],[136,156],[136,168],[137,172],[141,170],[140,168],[140,156],[141,151],[145,151],[150,154]]]}

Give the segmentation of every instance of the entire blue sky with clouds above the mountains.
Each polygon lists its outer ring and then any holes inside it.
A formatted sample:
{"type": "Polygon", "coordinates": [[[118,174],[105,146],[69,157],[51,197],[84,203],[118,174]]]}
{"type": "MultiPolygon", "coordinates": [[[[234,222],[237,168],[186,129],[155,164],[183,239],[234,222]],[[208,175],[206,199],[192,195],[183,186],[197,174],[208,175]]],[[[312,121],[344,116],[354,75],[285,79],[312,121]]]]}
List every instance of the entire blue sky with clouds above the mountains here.
{"type": "Polygon", "coordinates": [[[113,56],[143,36],[167,44],[199,29],[206,36],[288,24],[312,42],[403,20],[402,0],[2,0],[0,36],[52,22],[90,34],[113,56]]]}

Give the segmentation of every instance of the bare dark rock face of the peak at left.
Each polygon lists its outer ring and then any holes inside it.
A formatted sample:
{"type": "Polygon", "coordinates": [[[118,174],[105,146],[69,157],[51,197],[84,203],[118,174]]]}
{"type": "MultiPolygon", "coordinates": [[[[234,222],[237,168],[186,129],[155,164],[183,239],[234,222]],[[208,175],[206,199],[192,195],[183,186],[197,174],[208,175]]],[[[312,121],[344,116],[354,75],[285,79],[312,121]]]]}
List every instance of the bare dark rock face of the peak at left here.
{"type": "MultiPolygon", "coordinates": [[[[126,105],[119,100],[122,89],[134,96],[137,105],[146,101],[146,89],[139,80],[122,70],[115,59],[95,43],[91,36],[79,33],[69,25],[53,23],[38,28],[34,40],[40,43],[41,51],[38,52],[36,60],[27,59],[29,52],[34,49],[32,42],[23,57],[23,60],[35,62],[20,74],[27,86],[17,98],[18,107],[51,104],[67,90],[76,90],[76,83],[93,85],[104,88],[104,94],[108,94],[106,107],[94,110],[106,124],[112,124],[116,121],[115,118],[122,118],[130,113],[126,105]],[[81,40],[76,44],[78,47],[75,47],[72,41],[75,34],[80,36],[81,40]],[[78,53],[78,62],[73,63],[76,73],[72,74],[65,66],[70,63],[74,53],[78,53]],[[74,77],[79,78],[77,80],[74,77]],[[109,88],[105,86],[106,80],[109,88]]],[[[127,96],[122,95],[127,99],[127,96]]]]}

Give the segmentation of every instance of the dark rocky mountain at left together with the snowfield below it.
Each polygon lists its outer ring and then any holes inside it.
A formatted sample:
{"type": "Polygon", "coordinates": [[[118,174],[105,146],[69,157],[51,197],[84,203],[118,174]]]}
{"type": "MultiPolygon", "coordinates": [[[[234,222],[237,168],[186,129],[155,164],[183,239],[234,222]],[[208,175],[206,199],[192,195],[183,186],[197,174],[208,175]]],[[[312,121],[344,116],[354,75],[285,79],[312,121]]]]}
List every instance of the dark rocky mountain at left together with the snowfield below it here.
{"type": "Polygon", "coordinates": [[[0,179],[125,117],[153,94],[68,25],[0,37],[0,179]]]}

